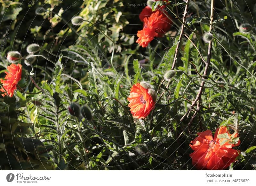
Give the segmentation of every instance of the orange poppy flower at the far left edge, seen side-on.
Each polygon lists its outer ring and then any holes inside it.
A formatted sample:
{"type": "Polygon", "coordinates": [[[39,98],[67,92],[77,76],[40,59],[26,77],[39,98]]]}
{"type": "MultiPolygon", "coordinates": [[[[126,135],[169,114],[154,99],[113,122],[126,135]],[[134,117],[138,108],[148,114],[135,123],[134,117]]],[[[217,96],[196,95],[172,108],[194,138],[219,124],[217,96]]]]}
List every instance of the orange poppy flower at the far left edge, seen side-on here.
{"type": "MultiPolygon", "coordinates": [[[[9,72],[5,71],[6,76],[4,79],[1,79],[1,83],[3,83],[4,89],[7,91],[7,94],[12,97],[14,90],[16,90],[16,86],[18,82],[21,80],[21,71],[22,71],[22,66],[20,64],[15,65],[11,64],[10,66],[7,67],[9,72]]],[[[0,89],[0,91],[5,92],[4,89],[0,89]]],[[[2,96],[6,96],[6,93],[2,94],[2,96]]]]}

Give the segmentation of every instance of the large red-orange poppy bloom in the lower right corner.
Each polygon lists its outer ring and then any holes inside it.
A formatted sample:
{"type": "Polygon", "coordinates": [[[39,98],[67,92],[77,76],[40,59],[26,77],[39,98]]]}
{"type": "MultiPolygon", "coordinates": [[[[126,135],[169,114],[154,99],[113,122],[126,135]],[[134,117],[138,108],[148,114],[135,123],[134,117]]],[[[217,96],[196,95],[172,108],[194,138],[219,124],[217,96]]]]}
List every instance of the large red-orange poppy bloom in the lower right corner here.
{"type": "Polygon", "coordinates": [[[211,130],[199,132],[197,135],[190,142],[189,146],[194,152],[189,156],[192,158],[192,164],[198,169],[225,169],[235,161],[239,154],[239,151],[232,149],[232,147],[240,144],[238,134],[235,132],[230,135],[226,126],[217,128],[214,138],[211,130]]]}

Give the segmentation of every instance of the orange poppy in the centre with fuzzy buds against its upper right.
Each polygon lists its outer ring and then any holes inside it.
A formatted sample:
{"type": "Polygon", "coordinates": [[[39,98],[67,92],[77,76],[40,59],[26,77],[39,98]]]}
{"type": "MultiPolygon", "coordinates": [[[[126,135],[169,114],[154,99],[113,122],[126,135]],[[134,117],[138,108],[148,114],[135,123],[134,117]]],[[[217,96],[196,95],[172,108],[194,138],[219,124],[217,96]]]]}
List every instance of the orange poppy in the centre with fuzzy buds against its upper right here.
{"type": "Polygon", "coordinates": [[[130,111],[134,118],[143,119],[155,107],[156,92],[148,83],[141,82],[132,86],[130,96],[127,98],[130,111]]]}

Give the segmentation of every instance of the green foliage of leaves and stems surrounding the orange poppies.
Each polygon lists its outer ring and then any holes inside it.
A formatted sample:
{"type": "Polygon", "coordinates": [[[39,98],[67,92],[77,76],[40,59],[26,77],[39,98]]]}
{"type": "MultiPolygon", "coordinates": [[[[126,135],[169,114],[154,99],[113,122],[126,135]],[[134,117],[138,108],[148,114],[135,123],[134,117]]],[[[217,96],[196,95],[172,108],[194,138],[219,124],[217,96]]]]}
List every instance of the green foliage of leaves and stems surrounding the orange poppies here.
{"type": "Polygon", "coordinates": [[[252,23],[256,12],[250,14],[242,3],[241,12],[228,1],[229,11],[215,3],[212,55],[202,77],[208,53],[202,35],[209,32],[210,21],[210,4],[205,2],[189,4],[183,30],[189,39],[183,35],[179,40],[186,4],[156,1],[152,10],[166,6],[174,23],[163,37],[141,48],[135,41],[143,27],[143,7],[127,6],[134,1],[2,1],[0,27],[6,39],[1,78],[10,65],[8,51],[17,50],[25,58],[29,44],[42,48],[35,54],[35,75],[21,59],[22,79],[14,96],[0,97],[0,169],[163,170],[172,165],[191,170],[191,140],[221,125],[228,126],[232,140],[227,134],[219,138],[230,144],[241,141],[236,147],[241,153],[230,168],[255,169],[256,34],[254,28],[238,30],[240,24],[252,23]],[[71,24],[75,16],[84,19],[81,25],[71,24]],[[164,74],[173,61],[176,73],[168,82],[164,74]],[[140,81],[149,82],[156,100],[160,98],[144,120],[132,118],[127,106],[132,85],[140,81]],[[197,104],[190,106],[202,81],[199,110],[193,116],[197,104]],[[92,120],[70,115],[72,102],[87,105],[92,120]],[[233,138],[236,133],[239,138],[233,138]]]}

